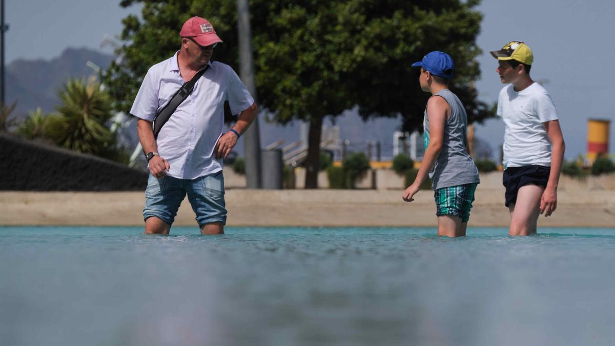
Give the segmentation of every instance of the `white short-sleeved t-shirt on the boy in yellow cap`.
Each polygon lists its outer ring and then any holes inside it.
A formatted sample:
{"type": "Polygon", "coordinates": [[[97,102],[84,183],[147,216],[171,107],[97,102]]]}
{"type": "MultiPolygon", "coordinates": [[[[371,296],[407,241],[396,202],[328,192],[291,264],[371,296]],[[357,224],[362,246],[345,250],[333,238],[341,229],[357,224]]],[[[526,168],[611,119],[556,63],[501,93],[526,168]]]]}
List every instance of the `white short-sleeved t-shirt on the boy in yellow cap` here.
{"type": "Polygon", "coordinates": [[[498,97],[498,116],[506,124],[504,169],[538,164],[551,166],[551,143],[542,123],[557,120],[555,103],[540,84],[534,82],[520,92],[512,84],[498,97]]]}

